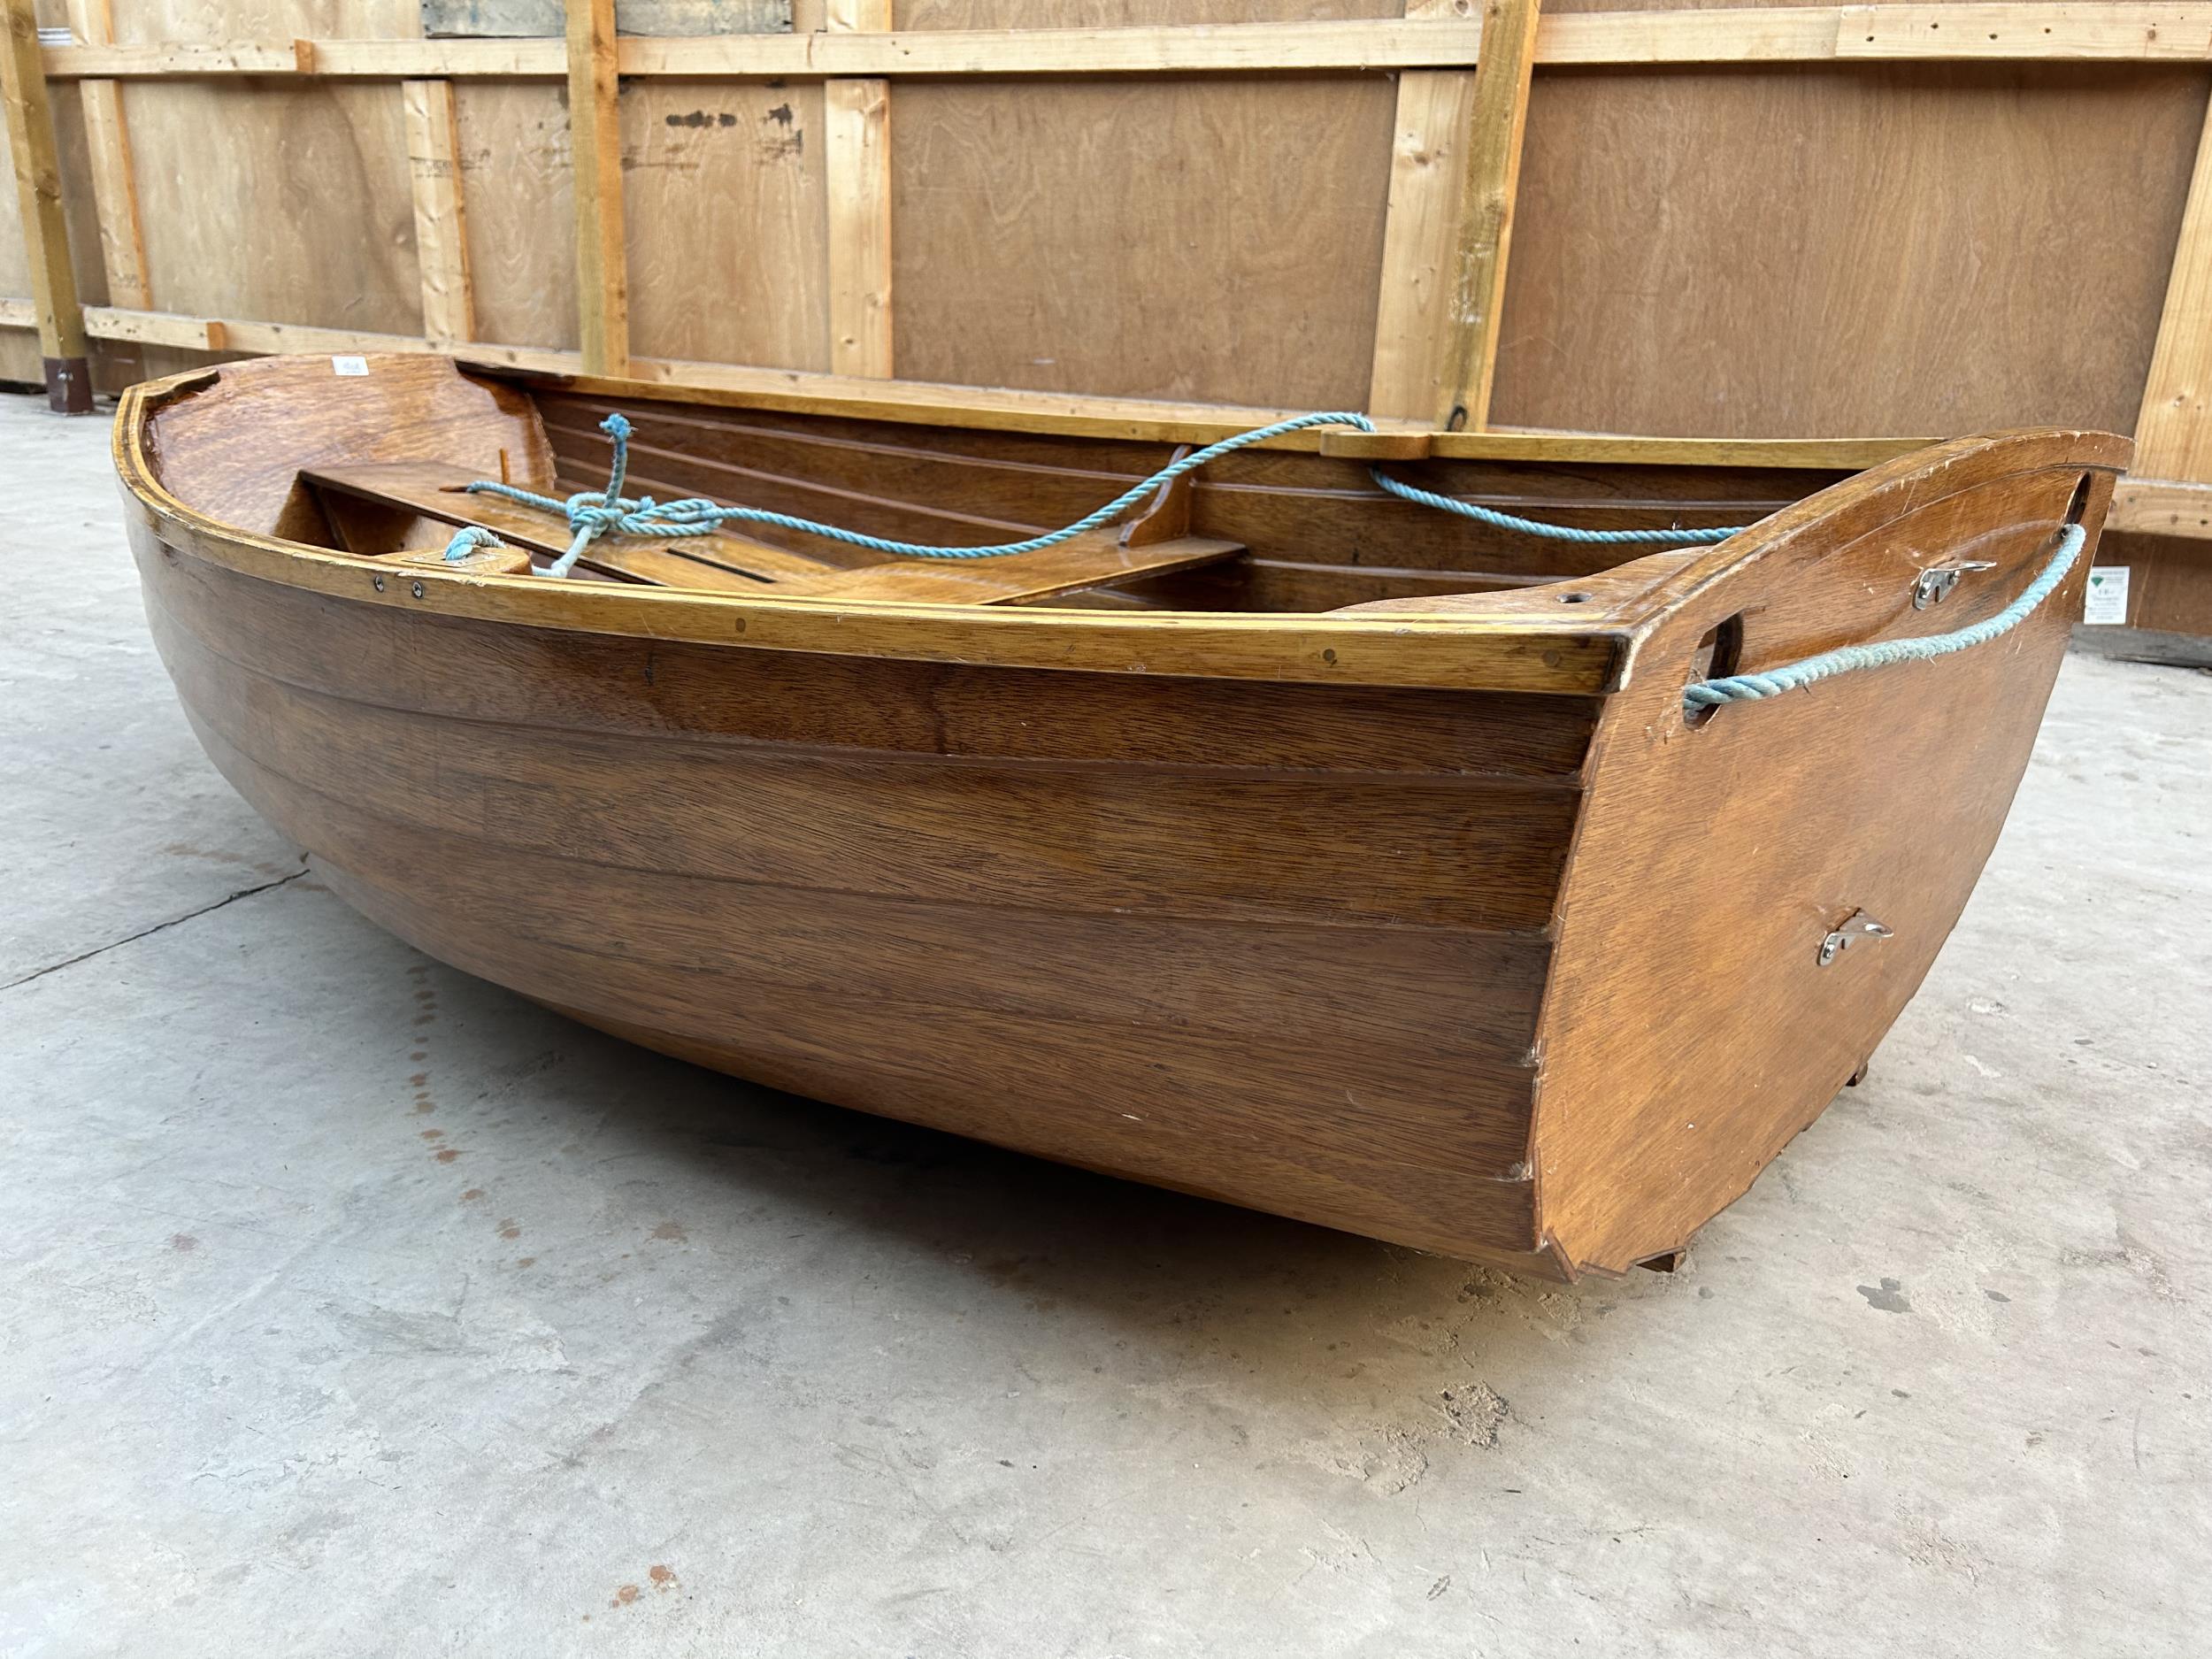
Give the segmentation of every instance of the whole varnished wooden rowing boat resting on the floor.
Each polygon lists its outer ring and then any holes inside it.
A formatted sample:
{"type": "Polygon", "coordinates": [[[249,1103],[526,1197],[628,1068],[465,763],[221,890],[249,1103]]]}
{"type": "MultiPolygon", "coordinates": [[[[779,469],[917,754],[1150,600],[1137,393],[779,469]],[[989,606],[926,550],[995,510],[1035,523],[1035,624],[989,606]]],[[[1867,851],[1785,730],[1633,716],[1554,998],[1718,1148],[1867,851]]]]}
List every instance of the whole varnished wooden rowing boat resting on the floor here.
{"type": "Polygon", "coordinates": [[[208,754],[363,914],[664,1053],[1575,1276],[1666,1259],[1851,1079],[1997,836],[2121,438],[1898,453],[1307,429],[967,564],[748,526],[531,571],[633,489],[1062,524],[1230,425],[268,358],[115,427],[208,754]],[[1750,524],[1657,553],[1579,526],[1750,524]],[[449,562],[456,526],[502,546],[449,562]],[[2079,544],[2079,535],[2075,542],[2079,544]],[[2048,566],[2057,568],[2057,566],[2048,566]],[[2017,606],[2015,606],[2017,608],[2017,606]]]}

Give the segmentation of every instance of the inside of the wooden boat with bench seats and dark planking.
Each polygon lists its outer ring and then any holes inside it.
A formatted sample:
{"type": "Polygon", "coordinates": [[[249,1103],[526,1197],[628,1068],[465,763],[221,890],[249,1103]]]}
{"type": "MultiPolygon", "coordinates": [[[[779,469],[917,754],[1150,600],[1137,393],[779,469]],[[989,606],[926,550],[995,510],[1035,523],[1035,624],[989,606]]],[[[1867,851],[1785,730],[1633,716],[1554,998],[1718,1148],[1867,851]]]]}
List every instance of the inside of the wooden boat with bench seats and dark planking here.
{"type": "MultiPolygon", "coordinates": [[[[471,369],[471,378],[484,380],[471,369]]],[[[327,385],[327,380],[325,380],[327,385]]],[[[635,427],[626,495],[706,498],[867,535],[980,546],[1060,529],[1190,445],[1068,431],[918,425],[845,414],[670,403],[504,380],[526,400],[533,442],[500,447],[500,480],[566,498],[604,489],[622,411],[635,427]],[[535,436],[542,434],[542,442],[535,436]]],[[[666,392],[661,392],[666,398],[666,392]]],[[[1429,458],[1422,434],[1307,436],[1245,449],[1164,484],[1117,522],[1035,553],[914,560],[818,535],[745,526],[688,538],[604,535],[575,577],[752,597],[905,604],[1048,604],[1199,613],[1325,613],[1442,595],[1573,584],[1668,542],[1579,544],[1486,526],[1396,500],[1369,467],[1420,489],[1579,529],[1708,529],[1754,522],[1849,476],[1847,467],[1586,460],[1573,442],[1528,458],[1429,458]]],[[[1511,447],[1511,445],[1506,445],[1511,447]]],[[[1593,445],[1597,449],[1599,445],[1593,445]]],[[[456,529],[502,546],[480,573],[542,571],[568,546],[544,509],[469,493],[484,478],[449,460],[307,456],[294,469],[290,540],[372,557],[442,557],[456,529]]],[[[480,445],[471,449],[480,453],[480,445]]],[[[1555,597],[1590,597],[1573,586],[1555,597]]]]}

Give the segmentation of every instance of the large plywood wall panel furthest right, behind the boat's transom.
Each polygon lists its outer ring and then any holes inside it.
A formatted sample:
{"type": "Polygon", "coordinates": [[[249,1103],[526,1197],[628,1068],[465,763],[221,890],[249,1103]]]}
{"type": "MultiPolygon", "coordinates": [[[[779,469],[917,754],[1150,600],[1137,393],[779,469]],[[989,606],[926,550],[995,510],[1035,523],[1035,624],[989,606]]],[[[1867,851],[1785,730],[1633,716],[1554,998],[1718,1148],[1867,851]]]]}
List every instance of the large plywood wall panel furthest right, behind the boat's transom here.
{"type": "Polygon", "coordinates": [[[2194,69],[1542,73],[1493,420],[2132,431],[2203,115],[2194,69]]]}

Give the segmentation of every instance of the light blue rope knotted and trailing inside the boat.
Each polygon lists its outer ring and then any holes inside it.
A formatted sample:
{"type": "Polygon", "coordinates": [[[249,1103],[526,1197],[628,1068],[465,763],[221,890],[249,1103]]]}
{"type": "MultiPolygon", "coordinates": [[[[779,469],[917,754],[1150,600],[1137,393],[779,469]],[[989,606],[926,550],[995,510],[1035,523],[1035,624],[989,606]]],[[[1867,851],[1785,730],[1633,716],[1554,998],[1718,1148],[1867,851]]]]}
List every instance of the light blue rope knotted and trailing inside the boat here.
{"type": "MultiPolygon", "coordinates": [[[[575,562],[584,557],[584,549],[608,531],[617,535],[706,535],[717,524],[772,524],[785,531],[799,531],[803,535],[821,535],[832,542],[845,542],[847,546],[865,546],[876,553],[889,553],[898,560],[1002,560],[1013,553],[1037,553],[1046,546],[1060,546],[1084,531],[1095,531],[1106,524],[1117,513],[1135,507],[1146,495],[1150,495],[1161,484],[1170,484],[1183,473],[1197,471],[1219,456],[1228,456],[1234,449],[1245,449],[1270,438],[1281,438],[1285,431],[1303,431],[1307,427],[1354,427],[1358,431],[1374,431],[1376,425],[1363,414],[1310,414],[1292,416],[1290,420],[1274,420],[1265,427],[1254,427],[1252,431],[1239,431],[1219,442],[1206,445],[1206,449],[1194,449],[1181,460],[1172,460],[1157,473],[1139,484],[1130,484],[1119,495],[1115,495],[1104,507],[1084,513],[1073,524],[1064,529],[1048,531],[1044,535],[1031,535],[1022,542],[998,542],[993,546],[929,546],[922,542],[891,542],[883,535],[863,535],[860,531],[847,531],[836,524],[823,524],[812,518],[792,518],[790,513],[770,513],[761,507],[721,507],[697,495],[679,502],[655,502],[650,495],[628,498],[622,493],[622,482],[630,471],[630,422],[611,414],[599,422],[604,431],[615,442],[615,460],[608,469],[606,489],[582,489],[568,500],[557,500],[555,495],[540,495],[529,489],[518,489],[515,484],[493,484],[489,480],[478,480],[469,484],[471,493],[498,495],[509,502],[520,502],[524,507],[538,507],[546,513],[560,513],[568,520],[573,540],[568,551],[562,553],[553,564],[546,566],[546,575],[568,575],[575,562]]],[[[1475,507],[1473,502],[1453,500],[1451,495],[1433,495],[1427,489],[1413,489],[1411,484],[1400,484],[1396,478],[1385,478],[1380,469],[1369,469],[1376,484],[1387,489],[1400,500],[1416,502],[1420,507],[1436,507],[1447,513],[1458,513],[1462,518],[1473,518],[1493,529],[1522,531],[1526,535],[1546,535],[1559,542],[1666,542],[1670,546],[1683,546],[1690,542],[1719,542],[1734,535],[1739,526],[1717,529],[1717,531],[1577,531],[1568,524],[1542,524],[1533,518],[1515,518],[1513,513],[1500,513],[1491,507],[1475,507]]],[[[453,538],[456,544],[460,538],[453,538]]],[[[453,549],[447,549],[447,557],[456,557],[453,549]]]]}

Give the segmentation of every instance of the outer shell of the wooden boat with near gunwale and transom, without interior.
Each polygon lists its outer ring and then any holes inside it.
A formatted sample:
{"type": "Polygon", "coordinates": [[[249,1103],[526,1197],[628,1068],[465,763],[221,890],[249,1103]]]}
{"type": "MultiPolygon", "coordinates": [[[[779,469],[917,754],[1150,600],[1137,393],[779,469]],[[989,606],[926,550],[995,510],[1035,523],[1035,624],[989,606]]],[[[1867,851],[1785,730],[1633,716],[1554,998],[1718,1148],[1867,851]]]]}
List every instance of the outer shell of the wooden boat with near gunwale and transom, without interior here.
{"type": "Polygon", "coordinates": [[[2002,827],[2088,562],[1997,646],[1690,728],[1699,637],[1732,617],[1763,668],[1986,617],[2068,515],[2095,533],[2128,458],[2079,431],[1933,445],[1573,577],[1573,617],[1544,608],[1564,584],[1002,611],[248,533],[159,489],[157,394],[117,422],[157,644],[217,765],[369,918],[757,1082],[1557,1279],[1679,1245],[1880,1040],[2002,827]],[[1991,575],[1913,611],[1964,551],[1991,575]],[[1124,732],[1124,688],[1155,681],[1177,717],[1124,732]],[[1285,730],[1245,757],[1254,699],[1285,730]],[[1394,719],[1416,730],[1369,763],[1394,719]],[[1920,787],[1953,790],[1933,847],[1920,787]],[[1898,936],[1816,975],[1869,898],[1898,936]],[[1389,1009],[1358,962],[1405,989],[1389,1009]],[[1818,1042],[1745,1024],[1770,993],[1818,1042]],[[1677,998],[1734,1051],[1666,1053],[1677,998]]]}

